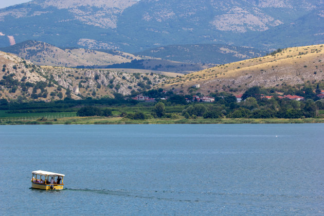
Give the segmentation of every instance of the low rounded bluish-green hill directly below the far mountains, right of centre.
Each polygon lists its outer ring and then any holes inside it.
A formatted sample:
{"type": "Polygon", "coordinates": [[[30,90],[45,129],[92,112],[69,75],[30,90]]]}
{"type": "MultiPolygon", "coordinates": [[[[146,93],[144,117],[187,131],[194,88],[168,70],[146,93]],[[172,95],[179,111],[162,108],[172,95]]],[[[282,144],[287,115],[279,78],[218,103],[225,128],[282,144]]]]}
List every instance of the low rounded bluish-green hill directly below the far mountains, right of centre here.
{"type": "Polygon", "coordinates": [[[243,59],[261,57],[266,54],[250,47],[237,47],[222,44],[169,45],[145,51],[136,55],[201,64],[226,64],[243,59]]]}

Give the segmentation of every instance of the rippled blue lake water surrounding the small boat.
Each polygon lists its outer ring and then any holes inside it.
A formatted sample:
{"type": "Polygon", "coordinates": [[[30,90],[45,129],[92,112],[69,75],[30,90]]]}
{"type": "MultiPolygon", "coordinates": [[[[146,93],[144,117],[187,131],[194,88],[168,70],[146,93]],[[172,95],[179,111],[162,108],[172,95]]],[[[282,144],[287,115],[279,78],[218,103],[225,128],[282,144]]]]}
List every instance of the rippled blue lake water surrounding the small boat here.
{"type": "Polygon", "coordinates": [[[324,214],[324,124],[1,125],[0,174],[1,215],[324,214]]]}

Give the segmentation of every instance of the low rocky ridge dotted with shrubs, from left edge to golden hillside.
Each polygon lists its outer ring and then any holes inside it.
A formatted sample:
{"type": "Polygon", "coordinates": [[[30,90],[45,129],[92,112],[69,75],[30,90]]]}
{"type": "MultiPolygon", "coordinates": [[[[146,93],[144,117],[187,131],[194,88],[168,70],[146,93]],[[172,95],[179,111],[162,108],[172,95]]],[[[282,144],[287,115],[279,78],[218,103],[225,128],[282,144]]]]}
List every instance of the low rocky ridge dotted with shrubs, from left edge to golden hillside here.
{"type": "Polygon", "coordinates": [[[37,66],[0,51],[0,99],[24,102],[65,97],[114,97],[151,89],[170,77],[102,69],[37,66]]]}

